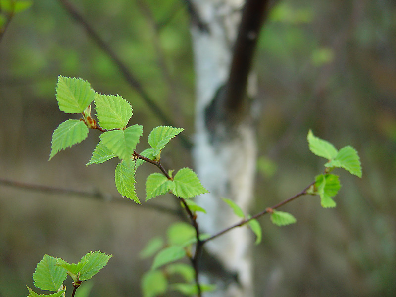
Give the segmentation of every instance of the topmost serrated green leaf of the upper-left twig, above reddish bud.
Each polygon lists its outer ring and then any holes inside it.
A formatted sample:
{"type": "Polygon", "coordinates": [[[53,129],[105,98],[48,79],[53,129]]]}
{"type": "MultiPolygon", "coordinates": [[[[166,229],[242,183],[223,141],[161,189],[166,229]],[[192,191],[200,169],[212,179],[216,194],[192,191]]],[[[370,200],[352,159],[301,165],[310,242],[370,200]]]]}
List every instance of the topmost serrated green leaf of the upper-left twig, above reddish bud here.
{"type": "Polygon", "coordinates": [[[81,78],[60,76],[56,85],[59,109],[66,113],[82,113],[94,100],[95,91],[81,78]]]}

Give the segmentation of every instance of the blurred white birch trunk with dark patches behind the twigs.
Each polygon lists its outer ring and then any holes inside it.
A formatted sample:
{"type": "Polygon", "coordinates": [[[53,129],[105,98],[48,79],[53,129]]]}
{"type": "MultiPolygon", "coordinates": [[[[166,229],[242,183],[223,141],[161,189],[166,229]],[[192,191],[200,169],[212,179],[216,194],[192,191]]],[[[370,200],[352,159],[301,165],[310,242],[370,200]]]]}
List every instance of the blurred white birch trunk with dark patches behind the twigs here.
{"type": "MultiPolygon", "coordinates": [[[[216,122],[208,129],[206,108],[223,86],[230,69],[232,50],[241,19],[243,0],[195,0],[201,20],[208,25],[203,32],[193,25],[192,40],[197,77],[195,166],[203,185],[210,191],[198,197],[207,214],[198,214],[201,232],[214,234],[238,220],[221,199],[234,200],[247,214],[252,198],[256,144],[249,120],[234,127],[216,122]]],[[[205,297],[252,297],[251,231],[241,227],[208,242],[205,246],[236,282],[204,274],[201,281],[216,283],[218,290],[205,297]]]]}

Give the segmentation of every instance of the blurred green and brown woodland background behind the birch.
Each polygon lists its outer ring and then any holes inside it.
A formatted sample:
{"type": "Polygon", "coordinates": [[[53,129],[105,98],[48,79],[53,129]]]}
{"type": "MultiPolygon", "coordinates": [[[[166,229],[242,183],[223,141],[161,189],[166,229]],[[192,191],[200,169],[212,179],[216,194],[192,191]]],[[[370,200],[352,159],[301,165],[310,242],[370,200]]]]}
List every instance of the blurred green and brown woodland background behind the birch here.
{"type": "MultiPolygon", "coordinates": [[[[58,75],[82,77],[98,92],[129,100],[130,123],[144,125],[138,150],[147,148],[149,131],[161,121],[60,1],[31,1],[2,32],[10,16],[6,2],[0,0],[0,178],[116,195],[116,161],[85,166],[98,131],[47,162],[52,132],[69,118],[57,107],[58,75]]],[[[185,2],[73,5],[193,141],[194,63],[185,2]]],[[[337,148],[355,147],[363,178],[338,172],[343,187],[335,209],[305,197],[284,208],[297,224],[279,228],[267,217],[260,220],[257,296],[395,296],[395,37],[393,0],[275,1],[254,66],[259,159],[251,213],[296,194],[321,171],[323,161],[306,144],[309,128],[337,148]]],[[[194,166],[181,142],[172,143],[163,152],[166,167],[194,166]]],[[[139,171],[137,191],[144,197],[154,168],[139,171]]],[[[32,286],[43,254],[73,262],[90,250],[114,255],[94,278],[90,296],[141,296],[140,278],[150,262],[138,252],[177,219],[149,207],[176,208],[171,197],[156,200],[145,207],[0,184],[0,296],[26,296],[25,284],[32,286]]]]}

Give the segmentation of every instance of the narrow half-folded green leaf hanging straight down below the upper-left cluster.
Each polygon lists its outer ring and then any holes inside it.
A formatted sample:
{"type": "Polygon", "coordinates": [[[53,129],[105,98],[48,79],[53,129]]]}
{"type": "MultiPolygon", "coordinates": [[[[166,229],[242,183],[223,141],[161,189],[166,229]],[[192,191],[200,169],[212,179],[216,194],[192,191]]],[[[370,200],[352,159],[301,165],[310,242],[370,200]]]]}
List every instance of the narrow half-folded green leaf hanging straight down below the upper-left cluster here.
{"type": "Polygon", "coordinates": [[[135,192],[135,162],[124,160],[115,168],[115,186],[122,196],[141,204],[135,192]]]}

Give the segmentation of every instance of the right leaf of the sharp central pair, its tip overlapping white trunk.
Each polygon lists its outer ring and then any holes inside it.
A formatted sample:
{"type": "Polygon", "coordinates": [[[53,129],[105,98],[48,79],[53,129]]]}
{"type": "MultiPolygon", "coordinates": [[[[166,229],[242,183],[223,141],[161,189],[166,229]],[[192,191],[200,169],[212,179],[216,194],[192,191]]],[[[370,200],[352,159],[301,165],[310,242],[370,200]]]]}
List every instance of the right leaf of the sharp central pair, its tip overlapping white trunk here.
{"type": "Polygon", "coordinates": [[[199,194],[208,193],[208,191],[203,188],[197,174],[190,168],[180,169],[174,179],[175,189],[173,194],[181,198],[192,198],[199,194]]]}

